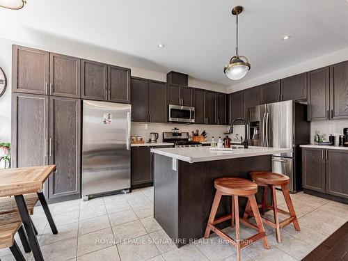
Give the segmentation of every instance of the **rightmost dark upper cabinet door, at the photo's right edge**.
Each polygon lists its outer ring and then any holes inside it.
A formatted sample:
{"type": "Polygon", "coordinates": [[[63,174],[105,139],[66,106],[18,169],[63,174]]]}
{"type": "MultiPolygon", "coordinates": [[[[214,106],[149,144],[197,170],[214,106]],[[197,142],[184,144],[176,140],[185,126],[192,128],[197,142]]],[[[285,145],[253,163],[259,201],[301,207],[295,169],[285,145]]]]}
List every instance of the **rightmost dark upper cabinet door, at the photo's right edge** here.
{"type": "Polygon", "coordinates": [[[330,118],[348,118],[348,61],[330,66],[330,118]]]}

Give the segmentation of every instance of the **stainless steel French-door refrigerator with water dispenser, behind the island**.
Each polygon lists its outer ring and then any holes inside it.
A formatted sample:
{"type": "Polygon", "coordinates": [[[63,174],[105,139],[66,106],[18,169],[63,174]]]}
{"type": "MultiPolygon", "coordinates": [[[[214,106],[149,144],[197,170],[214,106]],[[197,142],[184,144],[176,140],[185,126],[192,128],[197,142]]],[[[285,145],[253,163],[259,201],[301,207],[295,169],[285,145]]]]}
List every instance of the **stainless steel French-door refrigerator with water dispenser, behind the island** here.
{"type": "Polygon", "coordinates": [[[248,108],[250,145],[290,148],[292,152],[272,155],[272,171],[290,177],[289,190],[302,189],[300,144],[310,143],[306,104],[275,102],[248,108]]]}

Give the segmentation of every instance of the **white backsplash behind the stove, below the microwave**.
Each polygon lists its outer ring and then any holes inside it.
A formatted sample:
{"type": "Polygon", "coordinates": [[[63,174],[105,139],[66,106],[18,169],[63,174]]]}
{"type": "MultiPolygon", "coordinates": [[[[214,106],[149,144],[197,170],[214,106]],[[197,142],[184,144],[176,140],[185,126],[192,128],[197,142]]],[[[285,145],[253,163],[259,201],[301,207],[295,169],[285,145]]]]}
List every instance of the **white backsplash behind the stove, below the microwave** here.
{"type": "MultiPolygon", "coordinates": [[[[223,138],[223,132],[226,132],[230,128],[230,126],[220,126],[220,125],[198,125],[198,124],[175,124],[175,123],[145,123],[145,122],[132,122],[132,129],[131,129],[131,135],[141,135],[145,139],[145,141],[148,141],[150,138],[151,132],[157,132],[159,134],[158,142],[162,141],[162,133],[163,132],[171,132],[171,130],[177,127],[180,129],[181,132],[189,132],[191,135],[191,132],[196,132],[196,129],[199,130],[199,133],[202,133],[203,130],[207,132],[207,141],[212,140],[212,136],[214,136],[215,140],[219,139],[219,136],[223,138]]],[[[236,125],[234,128],[234,134],[230,135],[230,138],[232,141],[235,139],[235,134],[239,134],[244,136],[244,125],[236,125]]]]}

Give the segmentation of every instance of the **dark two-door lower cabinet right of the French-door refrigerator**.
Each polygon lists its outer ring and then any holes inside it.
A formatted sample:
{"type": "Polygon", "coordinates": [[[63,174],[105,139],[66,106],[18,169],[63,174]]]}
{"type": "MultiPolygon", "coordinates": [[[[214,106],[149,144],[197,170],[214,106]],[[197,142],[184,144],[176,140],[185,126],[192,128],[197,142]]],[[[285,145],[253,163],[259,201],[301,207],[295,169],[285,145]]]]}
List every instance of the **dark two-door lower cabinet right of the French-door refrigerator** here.
{"type": "Polygon", "coordinates": [[[347,199],[347,162],[348,150],[302,148],[303,188],[333,200],[347,199]]]}

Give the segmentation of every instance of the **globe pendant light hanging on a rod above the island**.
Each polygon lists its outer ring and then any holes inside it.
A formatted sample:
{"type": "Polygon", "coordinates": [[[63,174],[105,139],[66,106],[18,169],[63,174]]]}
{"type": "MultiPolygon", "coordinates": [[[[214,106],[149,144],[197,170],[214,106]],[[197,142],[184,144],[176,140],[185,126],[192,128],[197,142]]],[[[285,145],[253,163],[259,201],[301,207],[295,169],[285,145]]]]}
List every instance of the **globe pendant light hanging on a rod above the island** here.
{"type": "Polygon", "coordinates": [[[237,17],[237,45],[236,55],[230,59],[230,64],[223,68],[223,72],[232,80],[242,79],[250,70],[250,63],[245,56],[238,55],[238,15],[242,13],[243,6],[236,6],[232,9],[232,15],[237,17]]]}

